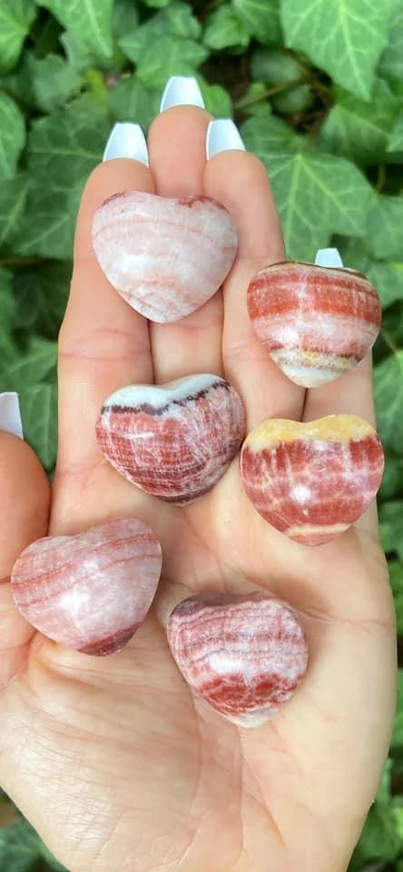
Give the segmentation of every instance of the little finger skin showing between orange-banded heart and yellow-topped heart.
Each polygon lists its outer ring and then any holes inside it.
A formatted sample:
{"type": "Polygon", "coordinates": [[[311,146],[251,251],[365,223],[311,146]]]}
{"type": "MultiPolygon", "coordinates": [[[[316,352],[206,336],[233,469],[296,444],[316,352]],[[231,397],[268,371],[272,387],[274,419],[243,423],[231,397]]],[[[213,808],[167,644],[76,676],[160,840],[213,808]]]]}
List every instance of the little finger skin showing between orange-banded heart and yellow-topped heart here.
{"type": "MultiPolygon", "coordinates": [[[[304,421],[315,421],[326,415],[359,415],[376,427],[374,394],[372,386],[372,355],[369,352],[349,372],[329,384],[307,391],[303,411],[304,421]]],[[[376,500],[354,525],[370,535],[377,535],[378,512],[376,500]]]]}

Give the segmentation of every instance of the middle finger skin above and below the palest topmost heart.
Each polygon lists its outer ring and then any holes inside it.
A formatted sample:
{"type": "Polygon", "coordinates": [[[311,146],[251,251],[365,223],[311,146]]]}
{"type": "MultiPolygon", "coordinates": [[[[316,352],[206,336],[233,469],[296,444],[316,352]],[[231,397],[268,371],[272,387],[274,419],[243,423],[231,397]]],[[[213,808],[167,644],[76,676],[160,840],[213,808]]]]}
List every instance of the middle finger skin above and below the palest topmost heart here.
{"type": "MultiPolygon", "coordinates": [[[[203,193],[210,118],[195,106],[176,106],[155,118],[149,133],[150,163],[156,191],[163,197],[203,193]]],[[[220,375],[221,327],[221,292],[180,322],[152,324],[155,381],[171,381],[193,372],[220,375]]]]}

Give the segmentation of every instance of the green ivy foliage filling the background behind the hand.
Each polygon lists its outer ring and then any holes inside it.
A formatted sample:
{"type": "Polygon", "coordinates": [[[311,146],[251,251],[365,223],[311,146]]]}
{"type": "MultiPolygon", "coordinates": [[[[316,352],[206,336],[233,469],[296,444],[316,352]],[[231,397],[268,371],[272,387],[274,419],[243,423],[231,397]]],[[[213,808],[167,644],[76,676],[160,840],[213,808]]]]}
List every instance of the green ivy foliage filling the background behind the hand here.
{"type": "MultiPolygon", "coordinates": [[[[378,287],[379,510],[403,639],[403,0],[0,0],[2,390],[20,392],[26,438],[52,471],[56,339],[84,181],[114,121],[148,128],[171,74],[196,75],[211,113],[241,125],[270,173],[290,258],[335,243],[378,287]]],[[[403,669],[398,684],[350,872],[403,872],[403,669]]],[[[62,868],[24,820],[0,830],[0,866],[62,868]]]]}

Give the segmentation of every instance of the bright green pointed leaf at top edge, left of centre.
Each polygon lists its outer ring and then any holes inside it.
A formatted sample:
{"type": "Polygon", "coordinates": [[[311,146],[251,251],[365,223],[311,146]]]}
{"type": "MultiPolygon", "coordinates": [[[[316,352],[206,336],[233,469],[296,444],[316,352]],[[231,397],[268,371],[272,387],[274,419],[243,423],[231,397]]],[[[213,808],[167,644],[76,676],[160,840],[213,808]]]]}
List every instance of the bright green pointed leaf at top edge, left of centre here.
{"type": "Polygon", "coordinates": [[[84,42],[97,56],[113,53],[113,0],[38,0],[67,30],[84,42]]]}

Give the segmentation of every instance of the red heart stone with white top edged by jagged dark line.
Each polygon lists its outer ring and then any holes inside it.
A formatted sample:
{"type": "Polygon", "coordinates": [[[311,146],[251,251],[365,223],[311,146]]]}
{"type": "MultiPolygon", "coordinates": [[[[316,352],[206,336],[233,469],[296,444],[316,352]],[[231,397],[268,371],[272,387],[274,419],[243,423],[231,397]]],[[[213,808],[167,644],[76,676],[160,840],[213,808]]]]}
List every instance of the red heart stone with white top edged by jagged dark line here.
{"type": "Polygon", "coordinates": [[[241,446],[238,393],[217,375],[129,385],[103,404],[96,435],[105,457],[147,493],[177,505],[202,497],[241,446]]]}

